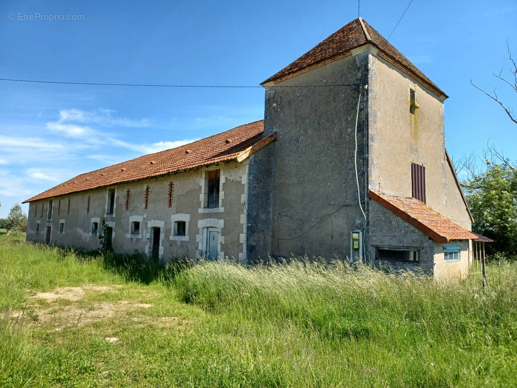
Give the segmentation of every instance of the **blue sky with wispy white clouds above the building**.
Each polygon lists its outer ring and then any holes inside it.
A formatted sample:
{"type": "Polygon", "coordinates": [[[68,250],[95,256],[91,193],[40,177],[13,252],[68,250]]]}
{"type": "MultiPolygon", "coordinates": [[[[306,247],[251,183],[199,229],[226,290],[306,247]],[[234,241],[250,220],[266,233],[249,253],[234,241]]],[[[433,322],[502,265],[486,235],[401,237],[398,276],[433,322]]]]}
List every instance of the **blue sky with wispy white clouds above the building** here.
{"type": "MultiPolygon", "coordinates": [[[[387,38],[407,4],[362,0],[361,16],[387,38]]],[[[2,2],[0,78],[258,85],[355,18],[356,1],[2,2]],[[38,13],[83,20],[18,20],[38,13]]],[[[390,38],[449,95],[454,159],[487,142],[517,159],[517,126],[469,84],[497,86],[517,110],[515,94],[492,76],[511,75],[506,40],[517,58],[516,26],[514,0],[414,0],[390,38]]],[[[79,173],[263,117],[262,88],[0,81],[0,217],[79,173]]]]}

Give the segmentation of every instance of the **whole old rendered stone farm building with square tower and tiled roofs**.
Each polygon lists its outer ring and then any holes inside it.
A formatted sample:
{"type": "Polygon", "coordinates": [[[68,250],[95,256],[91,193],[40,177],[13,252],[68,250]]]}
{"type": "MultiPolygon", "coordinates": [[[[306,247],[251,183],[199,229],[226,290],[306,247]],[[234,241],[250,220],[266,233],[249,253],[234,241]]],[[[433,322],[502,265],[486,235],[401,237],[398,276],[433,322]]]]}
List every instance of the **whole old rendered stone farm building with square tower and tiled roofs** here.
{"type": "Polygon", "coordinates": [[[262,85],[264,120],[28,199],[27,241],[468,272],[477,236],[445,148],[447,95],[405,56],[359,18],[262,85]]]}

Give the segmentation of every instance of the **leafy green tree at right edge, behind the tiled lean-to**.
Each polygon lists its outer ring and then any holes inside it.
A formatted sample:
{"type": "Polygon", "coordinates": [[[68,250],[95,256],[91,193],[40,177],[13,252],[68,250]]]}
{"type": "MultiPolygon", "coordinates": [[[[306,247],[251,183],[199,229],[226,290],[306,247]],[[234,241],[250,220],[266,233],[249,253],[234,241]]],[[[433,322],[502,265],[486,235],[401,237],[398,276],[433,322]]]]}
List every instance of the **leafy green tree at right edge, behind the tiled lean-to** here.
{"type": "Polygon", "coordinates": [[[517,168],[508,159],[494,163],[486,159],[486,170],[463,184],[473,231],[491,237],[489,252],[517,253],[517,168]]]}

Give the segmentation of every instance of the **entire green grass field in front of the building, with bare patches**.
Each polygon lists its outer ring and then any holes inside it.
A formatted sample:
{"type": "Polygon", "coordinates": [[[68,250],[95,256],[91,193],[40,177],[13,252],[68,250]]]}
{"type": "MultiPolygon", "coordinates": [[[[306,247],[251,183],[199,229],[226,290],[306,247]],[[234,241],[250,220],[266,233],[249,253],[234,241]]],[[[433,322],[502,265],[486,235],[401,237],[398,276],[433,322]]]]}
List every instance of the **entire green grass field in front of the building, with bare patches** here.
{"type": "Polygon", "coordinates": [[[0,386],[517,386],[517,265],[153,267],[0,236],[0,386]]]}

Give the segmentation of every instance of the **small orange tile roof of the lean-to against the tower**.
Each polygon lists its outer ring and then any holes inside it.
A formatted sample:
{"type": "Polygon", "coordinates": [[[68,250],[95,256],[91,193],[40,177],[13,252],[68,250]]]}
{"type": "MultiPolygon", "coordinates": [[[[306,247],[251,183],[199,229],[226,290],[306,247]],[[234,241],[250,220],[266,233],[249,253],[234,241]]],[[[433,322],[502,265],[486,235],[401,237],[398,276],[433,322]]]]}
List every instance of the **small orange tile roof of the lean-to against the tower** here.
{"type": "Polygon", "coordinates": [[[370,190],[369,197],[438,243],[475,240],[477,236],[415,198],[388,196],[370,190]]]}

